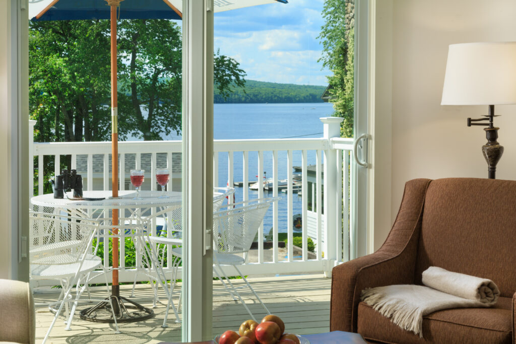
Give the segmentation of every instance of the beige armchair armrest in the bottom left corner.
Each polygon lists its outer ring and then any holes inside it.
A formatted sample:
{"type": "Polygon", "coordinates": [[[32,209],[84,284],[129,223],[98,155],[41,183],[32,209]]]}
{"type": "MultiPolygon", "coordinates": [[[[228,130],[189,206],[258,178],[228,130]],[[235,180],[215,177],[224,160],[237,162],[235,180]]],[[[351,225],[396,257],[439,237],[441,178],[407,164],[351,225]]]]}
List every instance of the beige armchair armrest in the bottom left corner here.
{"type": "Polygon", "coordinates": [[[0,280],[0,342],[34,344],[35,309],[29,284],[0,280]]]}

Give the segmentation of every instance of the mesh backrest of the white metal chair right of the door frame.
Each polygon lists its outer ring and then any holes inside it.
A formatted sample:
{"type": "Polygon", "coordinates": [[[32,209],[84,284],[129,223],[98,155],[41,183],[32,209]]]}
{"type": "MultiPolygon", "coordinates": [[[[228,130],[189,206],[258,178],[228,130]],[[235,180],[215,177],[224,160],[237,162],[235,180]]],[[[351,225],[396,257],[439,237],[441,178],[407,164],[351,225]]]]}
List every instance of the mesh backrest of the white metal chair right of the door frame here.
{"type": "MultiPolygon", "coordinates": [[[[280,197],[230,204],[213,214],[214,248],[218,253],[242,253],[251,244],[272,202],[280,197]]],[[[258,238],[263,240],[263,238],[258,238]]]]}

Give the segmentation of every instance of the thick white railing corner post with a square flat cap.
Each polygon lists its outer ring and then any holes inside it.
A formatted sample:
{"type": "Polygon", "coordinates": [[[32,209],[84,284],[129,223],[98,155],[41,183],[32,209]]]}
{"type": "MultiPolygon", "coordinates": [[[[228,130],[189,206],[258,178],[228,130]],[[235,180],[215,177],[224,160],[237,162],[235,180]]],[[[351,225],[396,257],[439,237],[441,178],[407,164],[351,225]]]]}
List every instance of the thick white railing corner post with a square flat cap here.
{"type": "Polygon", "coordinates": [[[323,117],[320,119],[323,125],[324,138],[327,140],[327,146],[324,150],[324,253],[325,259],[328,261],[326,265],[325,276],[331,277],[331,269],[337,260],[337,250],[335,243],[337,242],[338,228],[337,223],[337,152],[330,148],[330,139],[332,137],[341,136],[341,122],[339,117],[323,117]]]}

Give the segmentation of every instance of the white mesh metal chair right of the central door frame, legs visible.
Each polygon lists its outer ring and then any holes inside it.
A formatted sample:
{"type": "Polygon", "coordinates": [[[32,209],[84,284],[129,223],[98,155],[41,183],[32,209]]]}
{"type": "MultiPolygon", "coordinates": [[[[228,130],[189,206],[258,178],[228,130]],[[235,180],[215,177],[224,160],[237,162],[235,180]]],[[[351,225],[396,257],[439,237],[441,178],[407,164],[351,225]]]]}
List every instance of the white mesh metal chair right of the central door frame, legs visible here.
{"type": "MultiPolygon", "coordinates": [[[[240,301],[253,320],[256,320],[256,318],[242,300],[240,293],[228,278],[228,275],[221,265],[233,266],[238,275],[244,280],[249,290],[254,294],[256,300],[264,307],[267,314],[270,314],[265,304],[237,266],[245,263],[245,258],[238,254],[247,253],[250,250],[267,209],[272,202],[276,202],[279,199],[280,197],[256,199],[230,204],[226,208],[215,212],[213,215],[213,270],[222,282],[224,288],[235,300],[238,299],[240,301]],[[225,282],[221,275],[224,276],[225,282]]],[[[259,238],[259,240],[260,239],[261,238],[259,238]]]]}

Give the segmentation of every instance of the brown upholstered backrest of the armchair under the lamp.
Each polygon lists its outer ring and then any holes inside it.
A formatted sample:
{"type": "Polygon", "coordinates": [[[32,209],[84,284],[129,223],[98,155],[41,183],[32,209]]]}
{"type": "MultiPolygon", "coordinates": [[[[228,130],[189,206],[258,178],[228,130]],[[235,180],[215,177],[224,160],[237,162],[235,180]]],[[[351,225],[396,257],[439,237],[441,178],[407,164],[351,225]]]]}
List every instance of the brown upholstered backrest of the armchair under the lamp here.
{"type": "Polygon", "coordinates": [[[430,182],[415,282],[429,266],[492,280],[503,297],[516,290],[516,181],[446,178],[430,182]]]}

